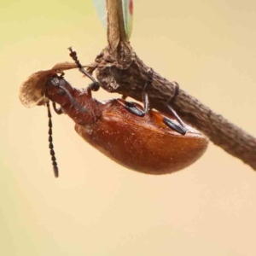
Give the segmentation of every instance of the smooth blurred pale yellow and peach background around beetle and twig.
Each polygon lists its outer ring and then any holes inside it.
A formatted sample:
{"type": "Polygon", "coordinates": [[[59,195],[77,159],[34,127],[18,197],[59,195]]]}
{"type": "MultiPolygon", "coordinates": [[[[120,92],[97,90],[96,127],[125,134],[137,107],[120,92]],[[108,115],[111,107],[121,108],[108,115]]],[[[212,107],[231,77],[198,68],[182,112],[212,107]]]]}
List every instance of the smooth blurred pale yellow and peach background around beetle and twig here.
{"type": "MultiPolygon", "coordinates": [[[[131,44],[143,61],[256,136],[256,2],[134,2],[131,44]]],[[[53,176],[46,109],[24,108],[18,91],[69,61],[68,46],[83,63],[106,46],[91,1],[1,0],[0,32],[0,255],[256,255],[256,173],[212,144],[182,172],[147,176],[54,115],[53,176]]],[[[76,87],[81,77],[67,73],[76,87]]]]}

